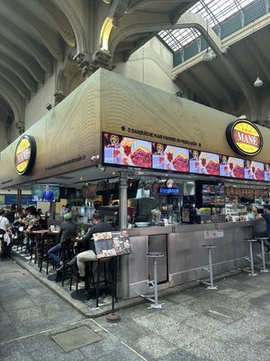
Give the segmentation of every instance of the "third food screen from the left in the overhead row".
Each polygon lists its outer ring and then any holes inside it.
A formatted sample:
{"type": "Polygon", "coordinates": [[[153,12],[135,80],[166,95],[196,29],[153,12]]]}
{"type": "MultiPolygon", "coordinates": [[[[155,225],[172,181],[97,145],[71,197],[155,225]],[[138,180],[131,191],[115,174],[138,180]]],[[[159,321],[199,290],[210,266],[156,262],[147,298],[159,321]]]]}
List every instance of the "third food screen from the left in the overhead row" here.
{"type": "Polygon", "coordinates": [[[193,173],[220,175],[220,156],[191,150],[189,168],[193,173]]]}

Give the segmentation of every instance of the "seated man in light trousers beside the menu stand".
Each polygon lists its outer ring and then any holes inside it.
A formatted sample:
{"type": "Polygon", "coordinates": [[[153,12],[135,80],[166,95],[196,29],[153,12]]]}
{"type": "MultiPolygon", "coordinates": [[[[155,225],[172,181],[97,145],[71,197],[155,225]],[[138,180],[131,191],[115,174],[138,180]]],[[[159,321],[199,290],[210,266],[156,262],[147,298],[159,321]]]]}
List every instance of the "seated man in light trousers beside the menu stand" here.
{"type": "Polygon", "coordinates": [[[103,222],[103,217],[98,212],[94,213],[92,218],[92,223],[94,226],[88,229],[88,232],[82,239],[86,251],[76,255],[76,264],[80,279],[82,281],[84,281],[85,279],[85,262],[97,261],[96,255],[94,253],[94,240],[93,240],[94,233],[112,231],[112,227],[108,223],[103,222]]]}

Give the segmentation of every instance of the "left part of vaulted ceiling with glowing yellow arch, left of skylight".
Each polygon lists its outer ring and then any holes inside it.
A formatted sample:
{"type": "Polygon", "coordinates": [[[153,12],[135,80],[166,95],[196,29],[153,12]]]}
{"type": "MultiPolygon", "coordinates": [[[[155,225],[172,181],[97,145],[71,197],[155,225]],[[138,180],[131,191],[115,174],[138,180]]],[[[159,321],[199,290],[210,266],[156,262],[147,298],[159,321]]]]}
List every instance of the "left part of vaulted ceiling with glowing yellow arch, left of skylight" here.
{"type": "MultiPolygon", "coordinates": [[[[24,131],[24,107],[53,71],[112,69],[192,4],[185,0],[0,0],[0,120],[24,131]],[[155,24],[155,28],[153,27],[155,24]],[[110,46],[104,45],[110,38],[110,46]]],[[[57,100],[66,96],[56,85],[57,100]]]]}

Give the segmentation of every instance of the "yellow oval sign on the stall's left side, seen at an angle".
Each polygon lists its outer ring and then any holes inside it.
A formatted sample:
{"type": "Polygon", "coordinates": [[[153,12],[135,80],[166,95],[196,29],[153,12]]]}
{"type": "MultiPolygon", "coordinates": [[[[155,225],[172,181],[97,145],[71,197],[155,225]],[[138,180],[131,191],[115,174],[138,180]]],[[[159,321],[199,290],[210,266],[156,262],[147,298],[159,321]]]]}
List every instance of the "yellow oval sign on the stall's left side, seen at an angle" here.
{"type": "Polygon", "coordinates": [[[14,165],[17,174],[26,175],[31,172],[36,159],[36,141],[31,135],[23,135],[17,144],[14,165]]]}

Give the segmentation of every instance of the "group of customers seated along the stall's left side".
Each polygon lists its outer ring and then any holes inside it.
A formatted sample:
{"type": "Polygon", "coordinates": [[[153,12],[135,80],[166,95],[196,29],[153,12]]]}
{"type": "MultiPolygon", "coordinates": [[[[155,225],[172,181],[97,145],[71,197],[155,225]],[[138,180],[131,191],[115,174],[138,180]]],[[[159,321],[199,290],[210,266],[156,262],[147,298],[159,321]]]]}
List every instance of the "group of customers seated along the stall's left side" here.
{"type": "MultiPolygon", "coordinates": [[[[89,227],[85,236],[82,236],[80,234],[81,229],[77,228],[77,224],[73,220],[70,209],[67,208],[67,206],[62,206],[61,211],[63,222],[59,226],[59,242],[57,245],[53,245],[49,249],[48,256],[51,261],[56,264],[56,269],[60,270],[64,266],[59,257],[63,245],[67,240],[72,238],[79,239],[81,252],[77,253],[72,262],[76,262],[79,276],[81,280],[84,280],[85,262],[97,260],[94,253],[94,233],[112,231],[112,227],[103,222],[103,217],[99,212],[95,212],[92,218],[92,227],[89,227]]],[[[8,255],[11,250],[14,237],[18,236],[18,230],[20,232],[21,239],[24,239],[31,236],[31,232],[34,230],[48,228],[47,214],[43,215],[41,209],[37,209],[34,206],[28,208],[16,208],[13,205],[10,208],[0,209],[0,253],[8,255]]]]}

